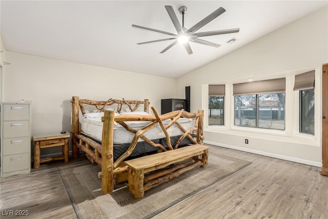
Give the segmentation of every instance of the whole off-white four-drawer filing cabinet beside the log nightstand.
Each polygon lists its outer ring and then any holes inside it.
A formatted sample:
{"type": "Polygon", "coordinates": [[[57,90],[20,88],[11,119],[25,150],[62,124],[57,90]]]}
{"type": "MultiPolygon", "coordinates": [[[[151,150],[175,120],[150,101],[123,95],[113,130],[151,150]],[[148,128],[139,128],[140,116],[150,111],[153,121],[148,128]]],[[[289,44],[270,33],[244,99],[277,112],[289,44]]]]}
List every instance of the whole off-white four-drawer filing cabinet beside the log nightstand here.
{"type": "Polygon", "coordinates": [[[31,172],[31,103],[1,103],[1,177],[31,172]]]}

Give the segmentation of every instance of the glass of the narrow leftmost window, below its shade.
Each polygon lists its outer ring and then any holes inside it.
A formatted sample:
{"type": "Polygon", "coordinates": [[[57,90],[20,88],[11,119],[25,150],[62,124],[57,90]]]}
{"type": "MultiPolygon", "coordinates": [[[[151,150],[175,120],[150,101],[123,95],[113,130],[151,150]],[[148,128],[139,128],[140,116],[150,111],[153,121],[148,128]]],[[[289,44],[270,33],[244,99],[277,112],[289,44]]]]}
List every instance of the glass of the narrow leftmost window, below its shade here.
{"type": "Polygon", "coordinates": [[[224,125],[224,96],[209,96],[209,126],[224,125]]]}

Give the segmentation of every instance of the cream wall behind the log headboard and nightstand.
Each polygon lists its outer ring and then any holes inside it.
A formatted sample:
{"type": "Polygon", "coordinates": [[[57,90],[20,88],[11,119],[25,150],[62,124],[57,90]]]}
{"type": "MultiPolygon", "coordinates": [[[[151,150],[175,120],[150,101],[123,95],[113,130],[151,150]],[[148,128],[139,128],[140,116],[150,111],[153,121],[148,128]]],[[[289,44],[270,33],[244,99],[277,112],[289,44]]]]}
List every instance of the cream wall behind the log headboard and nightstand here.
{"type": "MultiPolygon", "coordinates": [[[[175,97],[175,79],[59,61],[7,51],[5,101],[33,99],[33,133],[71,130],[72,96],[144,100],[160,113],[175,97]]],[[[151,111],[151,110],[150,110],[151,111]]]]}

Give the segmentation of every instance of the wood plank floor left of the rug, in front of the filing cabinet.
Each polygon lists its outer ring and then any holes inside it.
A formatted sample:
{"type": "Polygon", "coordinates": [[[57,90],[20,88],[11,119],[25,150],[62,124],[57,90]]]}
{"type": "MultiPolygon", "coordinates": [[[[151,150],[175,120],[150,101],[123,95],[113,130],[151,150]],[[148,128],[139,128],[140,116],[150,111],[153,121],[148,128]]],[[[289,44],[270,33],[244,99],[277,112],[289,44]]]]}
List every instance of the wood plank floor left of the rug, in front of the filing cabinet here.
{"type": "MultiPolygon", "coordinates": [[[[85,162],[79,157],[69,165],[85,162]]],[[[74,208],[66,192],[57,167],[63,161],[40,165],[32,169],[34,174],[22,174],[1,178],[0,217],[3,218],[76,218],[74,208]],[[25,213],[25,215],[20,215],[25,213]]]]}

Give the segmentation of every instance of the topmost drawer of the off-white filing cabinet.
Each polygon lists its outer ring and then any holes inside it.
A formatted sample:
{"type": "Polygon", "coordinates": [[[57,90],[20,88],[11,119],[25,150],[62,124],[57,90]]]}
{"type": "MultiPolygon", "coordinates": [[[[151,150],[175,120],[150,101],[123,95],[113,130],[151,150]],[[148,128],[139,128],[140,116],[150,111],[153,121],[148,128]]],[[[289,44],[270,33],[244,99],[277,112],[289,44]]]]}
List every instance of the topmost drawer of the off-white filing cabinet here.
{"type": "Polygon", "coordinates": [[[4,104],[4,120],[28,120],[29,105],[4,104]]]}

